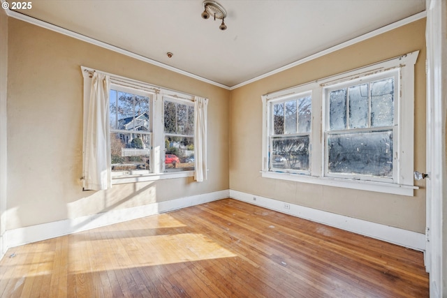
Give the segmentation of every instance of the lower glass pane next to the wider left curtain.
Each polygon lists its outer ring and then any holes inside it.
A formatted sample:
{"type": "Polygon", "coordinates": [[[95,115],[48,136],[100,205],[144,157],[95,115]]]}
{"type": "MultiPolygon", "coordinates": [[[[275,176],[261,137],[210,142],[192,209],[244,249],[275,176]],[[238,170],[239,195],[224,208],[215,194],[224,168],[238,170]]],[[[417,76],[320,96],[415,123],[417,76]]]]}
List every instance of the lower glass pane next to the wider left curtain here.
{"type": "Polygon", "coordinates": [[[110,133],[112,171],[150,170],[150,134],[110,133]]]}

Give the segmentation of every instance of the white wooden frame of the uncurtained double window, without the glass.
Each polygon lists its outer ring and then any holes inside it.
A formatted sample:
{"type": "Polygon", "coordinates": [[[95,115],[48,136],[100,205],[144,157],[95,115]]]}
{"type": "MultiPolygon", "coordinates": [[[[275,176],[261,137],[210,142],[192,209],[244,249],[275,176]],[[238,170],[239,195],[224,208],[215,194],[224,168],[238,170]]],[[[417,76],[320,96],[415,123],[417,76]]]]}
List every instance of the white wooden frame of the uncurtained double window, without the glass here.
{"type": "Polygon", "coordinates": [[[262,148],[262,170],[261,175],[265,178],[284,179],[309,184],[320,184],[326,186],[337,186],[364,191],[375,191],[380,193],[393,193],[397,195],[413,196],[413,190],[418,186],[413,185],[413,151],[414,151],[414,64],[418,58],[419,51],[404,54],[400,57],[381,61],[376,64],[357,68],[346,73],[340,73],[321,80],[309,82],[289,89],[276,91],[261,96],[263,101],[263,148],[262,148]],[[360,82],[372,77],[380,77],[387,73],[397,71],[399,73],[397,96],[395,98],[395,121],[398,121],[395,150],[396,163],[393,163],[393,179],[357,179],[357,177],[330,177],[325,174],[325,128],[328,121],[328,106],[325,92],[327,89],[339,84],[349,82],[360,82]],[[312,128],[310,140],[310,172],[293,173],[277,172],[269,170],[269,134],[270,128],[270,105],[272,100],[293,96],[305,92],[312,93],[312,128]],[[397,167],[395,166],[397,165],[397,167]],[[396,167],[396,168],[395,168],[396,167]]]}

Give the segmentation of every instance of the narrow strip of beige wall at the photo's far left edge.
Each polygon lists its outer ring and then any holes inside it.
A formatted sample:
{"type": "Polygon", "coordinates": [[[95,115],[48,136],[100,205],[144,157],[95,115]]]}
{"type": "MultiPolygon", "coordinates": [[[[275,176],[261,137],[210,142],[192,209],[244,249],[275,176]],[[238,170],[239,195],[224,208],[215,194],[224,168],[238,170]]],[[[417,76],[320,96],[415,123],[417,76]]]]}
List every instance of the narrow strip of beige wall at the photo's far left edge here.
{"type": "MultiPolygon", "coordinates": [[[[6,162],[7,162],[7,117],[6,85],[8,84],[8,17],[0,10],[0,239],[6,230],[4,213],[6,211],[6,162]]],[[[3,253],[3,241],[0,241],[0,256],[3,253]]]]}

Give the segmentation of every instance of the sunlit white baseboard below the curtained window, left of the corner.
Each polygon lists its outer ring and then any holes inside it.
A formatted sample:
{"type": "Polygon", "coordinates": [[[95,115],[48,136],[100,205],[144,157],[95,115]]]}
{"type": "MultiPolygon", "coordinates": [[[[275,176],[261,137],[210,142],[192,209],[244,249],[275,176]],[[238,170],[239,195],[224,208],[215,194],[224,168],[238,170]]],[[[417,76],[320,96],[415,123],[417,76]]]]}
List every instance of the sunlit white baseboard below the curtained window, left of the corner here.
{"type": "Polygon", "coordinates": [[[4,237],[0,237],[0,248],[3,247],[1,246],[2,241],[4,241],[3,244],[6,244],[6,246],[4,246],[5,251],[0,256],[3,256],[4,253],[6,253],[7,248],[64,236],[75,232],[90,230],[93,228],[99,228],[105,225],[112,225],[114,223],[121,223],[123,221],[131,221],[132,219],[161,214],[163,212],[172,211],[175,209],[191,207],[197,204],[229,198],[229,196],[230,191],[227,189],[225,191],[215,191],[213,193],[205,193],[203,195],[193,195],[191,197],[179,198],[166,202],[156,202],[144,206],[112,210],[101,214],[82,216],[63,221],[54,221],[51,223],[43,223],[41,225],[31,225],[25,228],[7,230],[3,235],[4,237]]]}

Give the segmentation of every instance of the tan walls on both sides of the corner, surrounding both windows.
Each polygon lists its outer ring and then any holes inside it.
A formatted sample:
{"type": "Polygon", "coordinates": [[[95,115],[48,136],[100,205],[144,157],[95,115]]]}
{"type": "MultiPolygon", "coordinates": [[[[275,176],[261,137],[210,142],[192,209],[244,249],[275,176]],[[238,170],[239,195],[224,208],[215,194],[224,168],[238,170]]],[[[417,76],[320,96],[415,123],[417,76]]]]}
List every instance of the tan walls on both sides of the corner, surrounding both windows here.
{"type": "Polygon", "coordinates": [[[13,18],[8,36],[8,230],[230,188],[424,232],[425,181],[417,181],[420,190],[406,197],[266,179],[259,171],[261,95],[414,50],[420,50],[415,169],[425,171],[425,20],[233,91],[13,18]],[[82,192],[80,65],[210,98],[209,180],[170,179],[82,192]]]}

